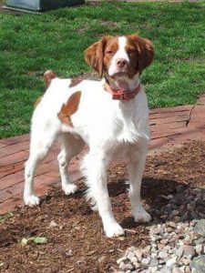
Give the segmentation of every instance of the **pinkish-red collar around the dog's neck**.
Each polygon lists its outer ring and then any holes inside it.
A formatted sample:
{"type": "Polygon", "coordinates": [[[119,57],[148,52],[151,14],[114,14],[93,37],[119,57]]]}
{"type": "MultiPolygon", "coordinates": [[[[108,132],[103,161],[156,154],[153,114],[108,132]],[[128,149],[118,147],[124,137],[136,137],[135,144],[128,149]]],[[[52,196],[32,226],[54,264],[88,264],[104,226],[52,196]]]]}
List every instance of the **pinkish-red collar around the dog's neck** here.
{"type": "Polygon", "coordinates": [[[135,96],[137,96],[138,92],[140,91],[140,87],[141,86],[139,84],[134,90],[125,92],[121,89],[114,90],[108,85],[108,83],[105,84],[105,89],[106,91],[112,94],[112,99],[118,99],[121,101],[128,101],[129,99],[132,99],[135,96]]]}

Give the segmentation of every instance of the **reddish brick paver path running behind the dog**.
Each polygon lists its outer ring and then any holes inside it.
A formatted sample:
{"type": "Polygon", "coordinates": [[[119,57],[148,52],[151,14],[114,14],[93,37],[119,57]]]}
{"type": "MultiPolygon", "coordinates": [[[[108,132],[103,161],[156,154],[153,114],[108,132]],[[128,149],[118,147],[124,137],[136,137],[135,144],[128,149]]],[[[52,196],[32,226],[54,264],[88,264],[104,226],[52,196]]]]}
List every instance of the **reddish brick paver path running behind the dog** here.
{"type": "MultiPolygon", "coordinates": [[[[149,125],[149,153],[180,145],[187,140],[205,140],[205,95],[200,96],[196,106],[151,110],[149,125]]],[[[29,135],[0,139],[0,215],[23,204],[24,164],[28,150],[29,135]]],[[[57,152],[58,147],[55,145],[37,168],[35,185],[39,196],[60,186],[57,152]]],[[[86,149],[69,166],[73,181],[82,177],[79,160],[85,152],[86,149]]]]}

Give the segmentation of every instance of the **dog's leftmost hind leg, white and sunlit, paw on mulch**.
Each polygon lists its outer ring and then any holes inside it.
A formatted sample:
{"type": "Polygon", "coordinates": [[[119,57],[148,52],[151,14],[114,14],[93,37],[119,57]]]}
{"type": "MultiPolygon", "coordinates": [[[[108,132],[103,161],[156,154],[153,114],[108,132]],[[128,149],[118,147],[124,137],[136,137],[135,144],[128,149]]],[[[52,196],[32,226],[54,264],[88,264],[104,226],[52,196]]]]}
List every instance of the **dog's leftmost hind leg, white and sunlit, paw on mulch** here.
{"type": "Polygon", "coordinates": [[[34,176],[37,164],[46,157],[46,154],[56,139],[56,130],[43,132],[40,130],[33,131],[30,141],[30,155],[25,166],[25,204],[33,207],[39,204],[39,198],[36,197],[34,189],[34,176]]]}

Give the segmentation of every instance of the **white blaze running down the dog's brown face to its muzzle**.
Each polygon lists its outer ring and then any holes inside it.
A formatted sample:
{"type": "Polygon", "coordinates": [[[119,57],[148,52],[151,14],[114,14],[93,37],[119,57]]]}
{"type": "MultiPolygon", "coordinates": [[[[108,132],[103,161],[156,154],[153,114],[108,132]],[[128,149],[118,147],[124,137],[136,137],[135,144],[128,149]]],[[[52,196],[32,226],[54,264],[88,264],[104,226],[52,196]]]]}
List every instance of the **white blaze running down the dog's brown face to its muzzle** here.
{"type": "Polygon", "coordinates": [[[117,66],[118,59],[125,59],[129,63],[128,53],[126,52],[127,38],[125,36],[118,37],[118,51],[112,57],[111,64],[108,68],[108,75],[114,76],[120,72],[117,66]]]}

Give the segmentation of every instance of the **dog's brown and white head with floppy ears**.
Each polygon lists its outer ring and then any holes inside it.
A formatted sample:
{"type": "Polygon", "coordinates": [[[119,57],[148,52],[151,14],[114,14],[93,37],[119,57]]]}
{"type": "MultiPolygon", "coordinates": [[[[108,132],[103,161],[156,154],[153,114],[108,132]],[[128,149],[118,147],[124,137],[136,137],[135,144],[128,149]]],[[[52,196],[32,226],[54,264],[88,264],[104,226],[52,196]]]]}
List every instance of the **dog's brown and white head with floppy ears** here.
{"type": "Polygon", "coordinates": [[[97,43],[89,46],[85,60],[100,77],[107,73],[111,77],[141,74],[154,57],[152,43],[138,35],[104,36],[97,43]]]}

